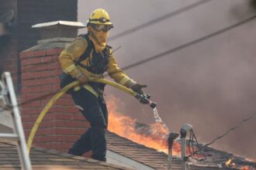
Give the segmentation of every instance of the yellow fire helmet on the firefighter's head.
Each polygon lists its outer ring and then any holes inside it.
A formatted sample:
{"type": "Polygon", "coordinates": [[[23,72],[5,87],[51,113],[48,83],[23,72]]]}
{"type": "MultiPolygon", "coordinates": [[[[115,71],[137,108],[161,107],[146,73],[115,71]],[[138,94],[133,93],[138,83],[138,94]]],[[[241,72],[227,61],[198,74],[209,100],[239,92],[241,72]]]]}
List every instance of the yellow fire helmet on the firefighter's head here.
{"type": "Polygon", "coordinates": [[[103,8],[95,9],[87,22],[92,24],[112,25],[108,12],[103,8]]]}

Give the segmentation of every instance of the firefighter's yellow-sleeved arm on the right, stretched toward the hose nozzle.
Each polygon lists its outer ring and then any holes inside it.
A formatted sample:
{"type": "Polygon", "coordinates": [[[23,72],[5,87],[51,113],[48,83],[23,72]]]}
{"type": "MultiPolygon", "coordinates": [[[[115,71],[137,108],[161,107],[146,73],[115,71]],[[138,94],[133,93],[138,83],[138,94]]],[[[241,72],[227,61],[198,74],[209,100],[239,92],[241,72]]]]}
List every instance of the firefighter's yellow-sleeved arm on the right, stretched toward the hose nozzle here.
{"type": "Polygon", "coordinates": [[[119,68],[119,66],[116,63],[116,59],[114,59],[114,56],[109,57],[109,63],[107,65],[107,71],[109,73],[109,76],[115,80],[117,83],[122,84],[125,87],[133,87],[133,85],[136,84],[136,82],[132,79],[130,79],[129,76],[126,76],[126,74],[119,68]]]}

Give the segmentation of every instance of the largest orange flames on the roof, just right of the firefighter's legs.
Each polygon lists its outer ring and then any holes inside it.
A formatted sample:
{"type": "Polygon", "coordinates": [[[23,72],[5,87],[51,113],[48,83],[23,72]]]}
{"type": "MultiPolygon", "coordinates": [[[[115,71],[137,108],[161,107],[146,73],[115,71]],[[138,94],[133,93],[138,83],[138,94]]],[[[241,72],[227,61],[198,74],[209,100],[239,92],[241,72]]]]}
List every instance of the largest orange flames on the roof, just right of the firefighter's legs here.
{"type": "MultiPolygon", "coordinates": [[[[168,131],[162,124],[138,124],[136,119],[128,117],[116,111],[118,101],[115,97],[109,97],[109,125],[108,130],[123,138],[128,138],[140,145],[154,148],[157,151],[163,151],[168,154],[167,136],[168,131]]],[[[153,114],[153,113],[152,113],[153,114]]],[[[172,147],[173,155],[180,155],[180,145],[174,142],[172,147]]]]}

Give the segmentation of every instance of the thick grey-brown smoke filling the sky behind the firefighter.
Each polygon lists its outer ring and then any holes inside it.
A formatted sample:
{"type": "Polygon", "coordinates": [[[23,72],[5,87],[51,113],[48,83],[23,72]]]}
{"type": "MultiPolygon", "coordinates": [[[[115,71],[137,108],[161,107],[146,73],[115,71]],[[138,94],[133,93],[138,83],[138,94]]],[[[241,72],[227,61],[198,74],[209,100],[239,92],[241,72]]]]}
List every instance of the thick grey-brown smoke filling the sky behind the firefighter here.
{"type": "MultiPolygon", "coordinates": [[[[95,8],[106,8],[115,35],[168,12],[198,1],[78,1],[78,19],[85,22],[95,8]]],[[[119,66],[127,66],[157,53],[173,49],[254,14],[255,1],[212,1],[154,26],[148,26],[110,42],[119,66]]],[[[161,118],[171,131],[182,124],[193,125],[199,142],[207,143],[256,111],[255,21],[219,36],[126,70],[157,101],[161,118]]],[[[81,30],[84,32],[85,30],[81,30]]],[[[123,92],[107,88],[120,97],[123,113],[146,124],[154,122],[153,110],[141,106],[123,92]]],[[[255,118],[214,145],[225,151],[256,159],[255,118]]]]}

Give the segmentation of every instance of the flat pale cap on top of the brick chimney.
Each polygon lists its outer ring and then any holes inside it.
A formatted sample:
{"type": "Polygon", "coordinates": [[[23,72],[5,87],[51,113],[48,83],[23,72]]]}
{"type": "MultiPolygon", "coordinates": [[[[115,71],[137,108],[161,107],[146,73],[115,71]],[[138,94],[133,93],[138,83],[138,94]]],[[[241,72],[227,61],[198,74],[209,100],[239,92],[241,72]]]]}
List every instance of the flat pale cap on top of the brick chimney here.
{"type": "Polygon", "coordinates": [[[85,28],[82,22],[69,22],[69,21],[54,21],[54,22],[44,22],[40,24],[33,25],[33,29],[56,29],[57,26],[71,26],[76,29],[85,28]]]}

